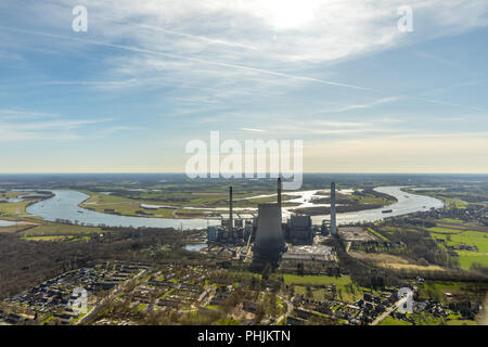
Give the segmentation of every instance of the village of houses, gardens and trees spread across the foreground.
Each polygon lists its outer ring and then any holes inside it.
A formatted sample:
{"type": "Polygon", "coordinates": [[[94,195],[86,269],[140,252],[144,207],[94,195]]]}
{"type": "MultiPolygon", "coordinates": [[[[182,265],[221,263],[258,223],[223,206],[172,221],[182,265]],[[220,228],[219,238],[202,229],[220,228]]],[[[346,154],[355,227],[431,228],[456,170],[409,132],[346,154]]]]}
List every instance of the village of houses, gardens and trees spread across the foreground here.
{"type": "MultiPolygon", "coordinates": [[[[131,325],[151,319],[180,324],[196,319],[213,324],[360,325],[377,324],[388,316],[414,324],[411,314],[398,310],[398,288],[363,291],[351,301],[341,299],[338,285],[320,285],[324,293],[320,299],[310,295],[317,285],[299,293],[290,291],[294,285],[285,284],[286,279],[202,266],[154,269],[104,262],[66,272],[3,300],[0,324],[131,325]],[[79,287],[88,293],[86,311],[73,305],[79,287]]],[[[414,304],[412,313],[422,311],[444,318],[453,313],[432,300],[414,304]]]]}

